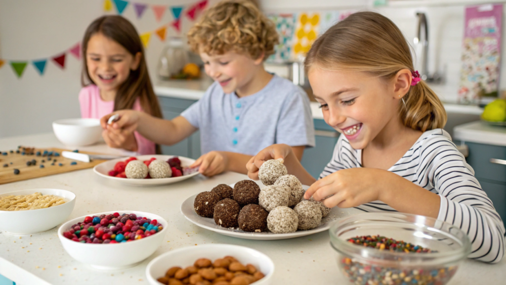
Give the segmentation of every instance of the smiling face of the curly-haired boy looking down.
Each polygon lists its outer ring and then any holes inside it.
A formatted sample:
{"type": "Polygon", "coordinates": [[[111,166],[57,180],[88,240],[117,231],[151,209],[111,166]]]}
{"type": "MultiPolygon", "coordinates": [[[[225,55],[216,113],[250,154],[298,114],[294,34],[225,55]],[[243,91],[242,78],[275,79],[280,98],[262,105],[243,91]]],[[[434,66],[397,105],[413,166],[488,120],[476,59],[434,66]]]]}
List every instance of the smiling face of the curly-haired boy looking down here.
{"type": "Polygon", "coordinates": [[[262,68],[263,56],[252,59],[250,56],[234,52],[222,55],[200,53],[205,73],[218,81],[224,93],[247,90],[255,75],[262,68]]]}

